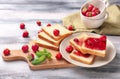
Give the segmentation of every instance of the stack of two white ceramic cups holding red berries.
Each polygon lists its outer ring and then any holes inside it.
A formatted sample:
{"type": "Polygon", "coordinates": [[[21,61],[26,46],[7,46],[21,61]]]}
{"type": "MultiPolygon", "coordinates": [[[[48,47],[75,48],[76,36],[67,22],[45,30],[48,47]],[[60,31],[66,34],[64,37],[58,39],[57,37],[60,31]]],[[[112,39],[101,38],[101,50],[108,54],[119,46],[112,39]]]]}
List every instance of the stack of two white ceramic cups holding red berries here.
{"type": "Polygon", "coordinates": [[[105,19],[108,17],[108,13],[106,11],[106,7],[108,6],[108,2],[104,2],[105,0],[89,0],[87,1],[80,9],[80,18],[84,25],[87,28],[98,28],[100,27],[105,19]],[[87,17],[82,14],[83,7],[88,6],[88,4],[93,4],[95,7],[99,8],[100,14],[92,17],[87,17]]]}

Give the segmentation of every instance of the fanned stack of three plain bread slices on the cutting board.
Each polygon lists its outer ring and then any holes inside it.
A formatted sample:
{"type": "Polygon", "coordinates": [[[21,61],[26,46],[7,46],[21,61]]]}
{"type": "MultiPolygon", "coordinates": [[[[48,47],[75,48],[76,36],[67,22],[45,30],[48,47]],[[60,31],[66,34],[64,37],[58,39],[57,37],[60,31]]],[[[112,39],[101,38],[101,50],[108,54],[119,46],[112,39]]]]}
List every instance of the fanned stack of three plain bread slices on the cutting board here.
{"type": "Polygon", "coordinates": [[[72,34],[71,31],[59,24],[44,26],[41,28],[41,32],[38,33],[38,38],[35,43],[41,47],[59,50],[60,42],[70,34],[72,34]],[[54,32],[55,30],[57,30],[56,34],[54,32]]]}

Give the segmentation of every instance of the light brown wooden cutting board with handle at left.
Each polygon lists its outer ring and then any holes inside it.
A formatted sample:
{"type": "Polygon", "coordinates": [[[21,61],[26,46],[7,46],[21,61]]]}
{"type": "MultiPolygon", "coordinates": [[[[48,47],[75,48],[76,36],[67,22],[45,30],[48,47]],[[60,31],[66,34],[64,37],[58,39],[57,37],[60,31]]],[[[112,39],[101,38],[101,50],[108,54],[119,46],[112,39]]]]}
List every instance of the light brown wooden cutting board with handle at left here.
{"type": "MultiPolygon", "coordinates": [[[[34,42],[30,42],[30,47],[31,45],[34,44],[34,42]]],[[[43,47],[39,47],[39,50],[42,50],[43,47]]],[[[29,61],[29,59],[27,58],[27,55],[29,53],[32,52],[32,50],[29,50],[29,52],[27,53],[23,53],[22,50],[11,50],[10,55],[9,56],[4,56],[2,55],[3,59],[5,61],[13,61],[13,60],[24,60],[28,63],[30,69],[32,70],[39,70],[39,69],[50,69],[50,68],[67,68],[67,67],[74,67],[75,65],[70,64],[69,62],[67,62],[66,60],[62,59],[62,60],[57,60],[55,58],[55,55],[59,52],[59,51],[55,51],[55,50],[51,50],[51,49],[47,49],[49,52],[51,52],[52,54],[52,59],[51,60],[47,60],[42,64],[39,65],[33,65],[31,64],[31,62],[29,61]]],[[[33,53],[33,52],[32,52],[33,53]]]]}

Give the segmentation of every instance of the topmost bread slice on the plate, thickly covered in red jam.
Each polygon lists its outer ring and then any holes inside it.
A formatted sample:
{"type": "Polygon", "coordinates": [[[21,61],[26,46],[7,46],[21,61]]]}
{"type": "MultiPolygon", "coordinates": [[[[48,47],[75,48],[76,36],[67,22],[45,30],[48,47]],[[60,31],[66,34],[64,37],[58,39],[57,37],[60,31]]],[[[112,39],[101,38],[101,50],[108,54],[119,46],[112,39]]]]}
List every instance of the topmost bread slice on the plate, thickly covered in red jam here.
{"type": "Polygon", "coordinates": [[[82,45],[82,52],[87,52],[89,54],[93,54],[100,57],[106,56],[106,36],[105,39],[101,39],[104,36],[98,35],[98,36],[88,36],[84,39],[84,43],[82,45]],[[91,41],[90,39],[94,39],[94,41],[91,41]],[[101,42],[104,42],[103,44],[101,42]],[[89,43],[90,46],[87,46],[89,43]],[[93,45],[93,46],[92,46],[93,45]],[[102,49],[100,48],[102,47],[102,49]]]}

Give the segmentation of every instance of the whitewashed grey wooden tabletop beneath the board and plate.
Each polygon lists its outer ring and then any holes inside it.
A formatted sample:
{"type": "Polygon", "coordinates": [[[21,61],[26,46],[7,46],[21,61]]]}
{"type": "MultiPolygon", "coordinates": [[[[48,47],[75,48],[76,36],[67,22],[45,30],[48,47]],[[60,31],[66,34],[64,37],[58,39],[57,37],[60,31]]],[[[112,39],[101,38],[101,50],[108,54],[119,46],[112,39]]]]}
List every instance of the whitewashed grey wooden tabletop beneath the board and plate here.
{"type": "MultiPolygon", "coordinates": [[[[115,59],[100,68],[63,68],[32,71],[24,61],[5,62],[1,54],[4,48],[20,49],[35,39],[42,26],[47,23],[61,23],[61,19],[79,11],[86,0],[0,0],[0,79],[116,79],[120,78],[120,37],[108,36],[117,50],[115,59]],[[30,38],[22,38],[19,24],[26,24],[30,38]],[[34,29],[33,29],[34,28],[34,29]]],[[[120,4],[119,0],[109,0],[110,4],[120,4]]]]}

